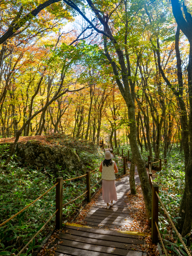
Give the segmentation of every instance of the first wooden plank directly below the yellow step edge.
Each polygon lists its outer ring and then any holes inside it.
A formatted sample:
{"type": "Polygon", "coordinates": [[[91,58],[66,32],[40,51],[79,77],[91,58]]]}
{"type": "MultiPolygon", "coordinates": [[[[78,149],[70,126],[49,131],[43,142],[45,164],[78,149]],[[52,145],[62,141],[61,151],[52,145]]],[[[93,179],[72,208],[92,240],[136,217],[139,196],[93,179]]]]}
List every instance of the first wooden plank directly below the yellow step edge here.
{"type": "MultiPolygon", "coordinates": [[[[77,230],[76,226],[65,226],[64,229],[73,229],[77,230]]],[[[129,235],[129,234],[124,234],[122,232],[118,231],[110,231],[110,230],[100,230],[96,228],[82,228],[79,227],[79,231],[84,231],[88,233],[93,233],[93,234],[101,234],[101,235],[109,235],[109,236],[120,236],[120,237],[126,237],[126,238],[138,238],[136,235],[129,235]]]]}

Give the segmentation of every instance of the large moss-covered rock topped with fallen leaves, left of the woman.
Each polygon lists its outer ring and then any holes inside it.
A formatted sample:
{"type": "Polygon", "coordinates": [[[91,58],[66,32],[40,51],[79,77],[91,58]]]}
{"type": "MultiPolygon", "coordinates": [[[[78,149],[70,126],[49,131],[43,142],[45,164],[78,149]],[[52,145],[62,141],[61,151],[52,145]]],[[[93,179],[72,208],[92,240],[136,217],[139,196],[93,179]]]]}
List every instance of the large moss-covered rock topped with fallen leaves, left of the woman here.
{"type": "MultiPolygon", "coordinates": [[[[12,146],[14,138],[4,142],[12,146]]],[[[87,140],[78,140],[64,134],[48,136],[20,137],[16,147],[16,154],[22,158],[22,162],[36,166],[38,169],[44,166],[51,170],[68,170],[76,175],[84,174],[86,167],[79,157],[80,152],[94,153],[96,145],[87,140]]]]}

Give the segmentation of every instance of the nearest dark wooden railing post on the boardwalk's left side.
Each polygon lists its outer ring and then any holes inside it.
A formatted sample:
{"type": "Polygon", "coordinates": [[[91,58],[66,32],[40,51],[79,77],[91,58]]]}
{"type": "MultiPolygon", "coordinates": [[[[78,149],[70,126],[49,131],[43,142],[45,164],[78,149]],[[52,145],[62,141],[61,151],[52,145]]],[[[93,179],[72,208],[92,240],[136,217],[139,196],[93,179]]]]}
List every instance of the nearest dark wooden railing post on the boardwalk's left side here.
{"type": "Polygon", "coordinates": [[[56,178],[56,210],[55,214],[55,226],[56,229],[62,228],[63,221],[63,177],[56,178]]]}

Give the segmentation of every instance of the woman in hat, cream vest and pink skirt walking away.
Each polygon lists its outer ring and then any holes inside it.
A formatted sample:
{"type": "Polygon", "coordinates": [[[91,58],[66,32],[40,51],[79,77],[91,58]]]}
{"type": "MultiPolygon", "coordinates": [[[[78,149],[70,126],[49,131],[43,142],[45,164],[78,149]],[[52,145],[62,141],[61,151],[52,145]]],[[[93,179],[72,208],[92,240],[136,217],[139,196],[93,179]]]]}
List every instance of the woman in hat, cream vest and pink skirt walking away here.
{"type": "Polygon", "coordinates": [[[101,162],[99,171],[102,172],[102,193],[103,200],[107,203],[107,209],[113,206],[113,201],[117,201],[115,187],[115,173],[118,173],[116,163],[112,161],[110,151],[105,152],[105,160],[101,162]]]}

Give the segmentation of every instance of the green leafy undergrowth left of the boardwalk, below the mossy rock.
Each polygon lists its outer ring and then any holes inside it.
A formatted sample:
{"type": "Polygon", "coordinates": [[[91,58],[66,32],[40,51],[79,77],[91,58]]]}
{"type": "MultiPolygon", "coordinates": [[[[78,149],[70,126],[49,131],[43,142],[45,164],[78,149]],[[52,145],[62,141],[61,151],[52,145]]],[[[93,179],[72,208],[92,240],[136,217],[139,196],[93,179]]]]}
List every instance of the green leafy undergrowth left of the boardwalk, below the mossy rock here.
{"type": "MultiPolygon", "coordinates": [[[[8,156],[6,148],[8,148],[6,144],[0,145],[2,164],[8,156]]],[[[81,151],[79,155],[88,170],[94,170],[103,159],[103,152],[100,150],[95,154],[81,151]]],[[[58,176],[62,176],[64,180],[76,177],[75,172],[74,174],[69,174],[68,170],[62,169],[62,166],[57,166],[57,170],[58,172],[53,172],[46,166],[40,170],[36,170],[33,166],[23,166],[21,158],[14,155],[6,171],[0,170],[0,223],[19,212],[51,188],[58,176]]],[[[96,184],[100,178],[100,173],[92,173],[91,186],[96,184]]],[[[100,184],[92,188],[92,194],[99,186],[100,184]]],[[[63,182],[63,204],[72,201],[85,191],[85,176],[63,182]]],[[[53,188],[24,212],[0,227],[0,255],[17,254],[34,234],[40,230],[56,210],[55,195],[56,188],[53,188]]],[[[71,221],[85,202],[85,196],[82,196],[71,204],[64,206],[63,221],[71,221]]],[[[34,249],[40,246],[39,244],[44,240],[48,232],[53,229],[54,225],[55,217],[28,246],[28,250],[25,250],[25,253],[21,255],[31,256],[34,249]]]]}

